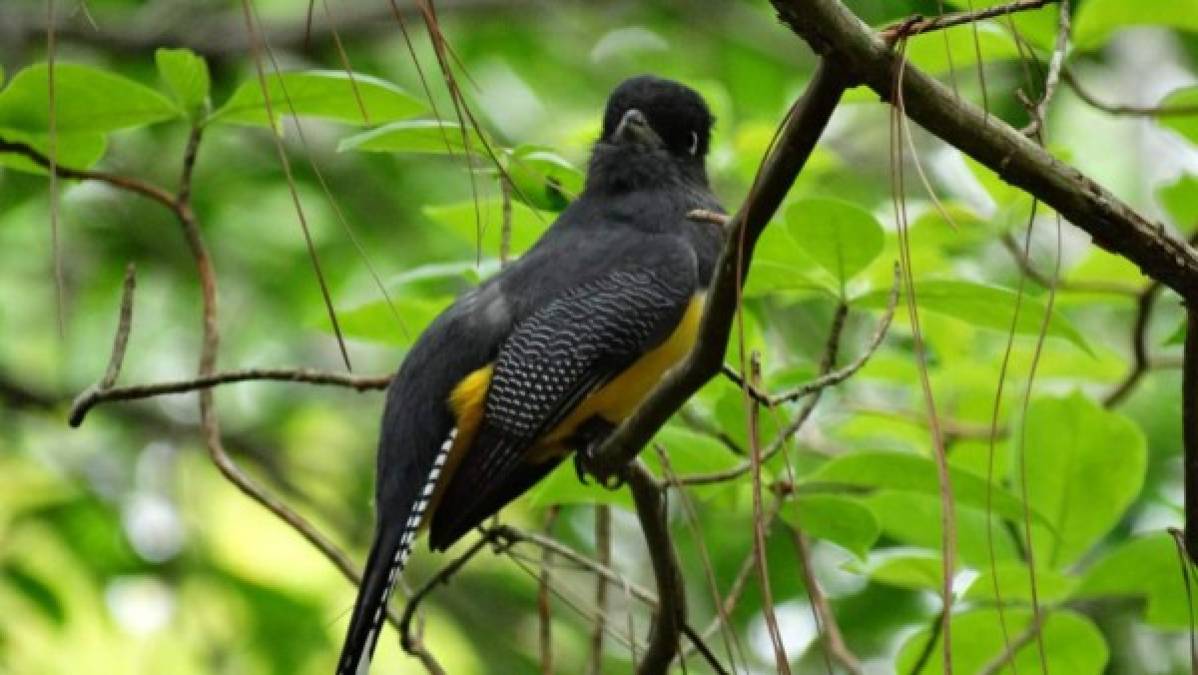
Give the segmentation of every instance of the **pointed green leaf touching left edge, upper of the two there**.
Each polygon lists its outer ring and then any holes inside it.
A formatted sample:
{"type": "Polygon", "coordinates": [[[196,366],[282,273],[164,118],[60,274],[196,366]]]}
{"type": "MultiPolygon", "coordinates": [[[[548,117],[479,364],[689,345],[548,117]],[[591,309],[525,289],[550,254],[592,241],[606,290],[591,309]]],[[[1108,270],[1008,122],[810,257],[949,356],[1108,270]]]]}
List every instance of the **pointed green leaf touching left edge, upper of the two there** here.
{"type": "MultiPolygon", "coordinates": [[[[46,64],[13,76],[0,91],[0,134],[49,132],[49,86],[46,64]]],[[[55,64],[54,127],[60,134],[102,134],[179,116],[165,96],[128,78],[91,66],[55,64]]]]}

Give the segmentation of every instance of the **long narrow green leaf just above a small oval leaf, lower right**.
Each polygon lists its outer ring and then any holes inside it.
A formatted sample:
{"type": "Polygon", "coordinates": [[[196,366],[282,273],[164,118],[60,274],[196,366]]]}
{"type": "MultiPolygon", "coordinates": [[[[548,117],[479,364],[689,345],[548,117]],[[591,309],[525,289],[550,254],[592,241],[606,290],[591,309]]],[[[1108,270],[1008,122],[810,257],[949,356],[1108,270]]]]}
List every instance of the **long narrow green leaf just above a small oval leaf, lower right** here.
{"type": "MultiPolygon", "coordinates": [[[[949,468],[952,496],[958,504],[986,508],[987,482],[968,471],[949,468]]],[[[865,488],[888,488],[924,494],[939,494],[936,463],[926,457],[901,452],[851,452],[825,463],[804,483],[833,483],[865,488]]],[[[1000,486],[993,486],[994,513],[1015,520],[1023,519],[1018,498],[1000,486]]],[[[1033,511],[1033,517],[1039,517],[1033,511]]]]}

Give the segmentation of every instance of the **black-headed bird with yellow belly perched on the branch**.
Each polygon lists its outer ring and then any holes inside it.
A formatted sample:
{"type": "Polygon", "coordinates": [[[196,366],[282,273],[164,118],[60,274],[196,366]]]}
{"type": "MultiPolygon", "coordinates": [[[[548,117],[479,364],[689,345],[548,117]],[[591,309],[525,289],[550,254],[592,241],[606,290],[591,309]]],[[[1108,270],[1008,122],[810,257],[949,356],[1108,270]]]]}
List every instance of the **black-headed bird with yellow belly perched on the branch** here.
{"type": "Polygon", "coordinates": [[[375,531],[337,675],[365,675],[416,537],[444,550],[593,448],[689,354],[722,234],[694,89],[611,92],[580,194],[518,260],[434,319],[387,390],[375,531]]]}

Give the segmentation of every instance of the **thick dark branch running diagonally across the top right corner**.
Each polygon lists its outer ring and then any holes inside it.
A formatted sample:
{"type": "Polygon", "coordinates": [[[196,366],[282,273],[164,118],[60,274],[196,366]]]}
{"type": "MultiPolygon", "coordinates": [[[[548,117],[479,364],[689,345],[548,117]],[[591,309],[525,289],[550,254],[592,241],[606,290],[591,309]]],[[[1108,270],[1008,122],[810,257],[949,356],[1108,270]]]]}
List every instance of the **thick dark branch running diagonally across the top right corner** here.
{"type": "MultiPolygon", "coordinates": [[[[782,20],[825,59],[890,101],[896,56],[887,43],[839,0],[772,0],[782,20]]],[[[1198,295],[1198,253],[1164,227],[1137,213],[1118,197],[1009,125],[954,96],[907,64],[902,101],[910,119],[1025,189],[1082,228],[1099,246],[1124,255],[1182,297],[1198,295]]]]}

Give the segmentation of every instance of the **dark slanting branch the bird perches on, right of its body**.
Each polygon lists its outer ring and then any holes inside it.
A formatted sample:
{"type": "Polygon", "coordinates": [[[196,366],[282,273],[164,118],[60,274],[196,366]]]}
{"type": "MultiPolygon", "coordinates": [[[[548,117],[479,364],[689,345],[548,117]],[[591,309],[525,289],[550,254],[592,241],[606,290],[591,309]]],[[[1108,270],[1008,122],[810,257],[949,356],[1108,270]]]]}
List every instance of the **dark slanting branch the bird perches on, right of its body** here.
{"type": "Polygon", "coordinates": [[[815,150],[845,92],[845,80],[835,71],[835,66],[821,61],[803,97],[787,116],[725,237],[695,349],[595,451],[588,469],[600,480],[628,464],[692,393],[719,374],[754,245],[815,150]]]}

